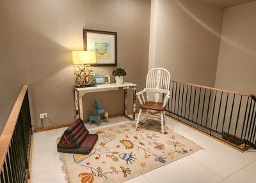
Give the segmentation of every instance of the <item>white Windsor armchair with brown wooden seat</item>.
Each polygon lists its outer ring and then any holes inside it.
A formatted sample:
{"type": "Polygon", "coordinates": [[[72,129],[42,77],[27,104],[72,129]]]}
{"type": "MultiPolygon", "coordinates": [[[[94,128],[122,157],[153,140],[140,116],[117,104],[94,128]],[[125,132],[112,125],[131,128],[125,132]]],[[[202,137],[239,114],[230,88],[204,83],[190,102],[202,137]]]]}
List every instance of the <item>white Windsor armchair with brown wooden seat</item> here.
{"type": "Polygon", "coordinates": [[[138,115],[138,120],[136,122],[136,129],[139,125],[142,111],[146,111],[146,118],[148,117],[161,120],[161,132],[164,133],[164,121],[165,121],[165,106],[170,99],[170,72],[165,68],[152,68],[147,74],[146,88],[141,92],[136,93],[140,101],[140,112],[138,115]],[[146,99],[145,100],[145,93],[146,99]],[[154,95],[152,96],[151,93],[154,95]],[[160,95],[161,94],[161,95],[160,95]],[[161,96],[164,96],[163,102],[161,96]],[[141,100],[142,98],[142,100],[141,100]],[[152,98],[152,99],[151,99],[152,98]]]}

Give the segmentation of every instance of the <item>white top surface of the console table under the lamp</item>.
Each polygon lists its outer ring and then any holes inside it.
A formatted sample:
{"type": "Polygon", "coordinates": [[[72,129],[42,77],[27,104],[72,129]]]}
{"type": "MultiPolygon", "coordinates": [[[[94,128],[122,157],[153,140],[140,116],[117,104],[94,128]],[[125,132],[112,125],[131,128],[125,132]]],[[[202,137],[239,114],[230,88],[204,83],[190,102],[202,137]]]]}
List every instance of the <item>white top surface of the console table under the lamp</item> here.
{"type": "Polygon", "coordinates": [[[123,84],[99,84],[92,87],[76,88],[76,91],[79,93],[91,93],[91,92],[103,92],[108,90],[118,90],[119,88],[125,87],[136,87],[136,84],[124,82],[123,84]]]}

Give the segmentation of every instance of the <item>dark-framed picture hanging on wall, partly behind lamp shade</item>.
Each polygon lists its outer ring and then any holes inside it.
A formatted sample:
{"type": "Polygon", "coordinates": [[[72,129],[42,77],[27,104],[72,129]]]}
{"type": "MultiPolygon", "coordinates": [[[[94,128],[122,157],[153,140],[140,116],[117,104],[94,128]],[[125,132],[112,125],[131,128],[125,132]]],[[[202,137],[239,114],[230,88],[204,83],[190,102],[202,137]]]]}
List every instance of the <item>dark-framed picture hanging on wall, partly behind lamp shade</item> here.
{"type": "Polygon", "coordinates": [[[96,52],[96,63],[91,66],[116,66],[116,32],[83,29],[84,51],[96,52]]]}

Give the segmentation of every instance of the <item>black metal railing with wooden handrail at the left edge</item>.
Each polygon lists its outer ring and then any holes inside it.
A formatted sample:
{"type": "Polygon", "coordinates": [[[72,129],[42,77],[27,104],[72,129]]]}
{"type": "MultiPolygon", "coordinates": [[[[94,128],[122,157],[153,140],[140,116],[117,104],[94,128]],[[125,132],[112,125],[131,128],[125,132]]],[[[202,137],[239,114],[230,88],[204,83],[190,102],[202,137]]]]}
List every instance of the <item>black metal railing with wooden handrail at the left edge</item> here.
{"type": "Polygon", "coordinates": [[[28,182],[31,141],[28,86],[23,86],[0,136],[0,183],[28,182]]]}

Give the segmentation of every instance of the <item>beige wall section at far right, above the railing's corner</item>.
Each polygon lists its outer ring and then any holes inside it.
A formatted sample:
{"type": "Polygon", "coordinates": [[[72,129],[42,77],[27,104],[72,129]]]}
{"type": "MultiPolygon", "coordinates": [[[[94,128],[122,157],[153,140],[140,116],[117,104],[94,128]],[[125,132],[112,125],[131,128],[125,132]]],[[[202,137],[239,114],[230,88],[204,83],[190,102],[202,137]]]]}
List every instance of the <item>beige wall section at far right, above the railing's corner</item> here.
{"type": "Polygon", "coordinates": [[[256,1],[225,8],[216,88],[256,94],[256,1]]]}

